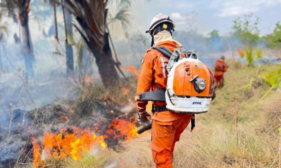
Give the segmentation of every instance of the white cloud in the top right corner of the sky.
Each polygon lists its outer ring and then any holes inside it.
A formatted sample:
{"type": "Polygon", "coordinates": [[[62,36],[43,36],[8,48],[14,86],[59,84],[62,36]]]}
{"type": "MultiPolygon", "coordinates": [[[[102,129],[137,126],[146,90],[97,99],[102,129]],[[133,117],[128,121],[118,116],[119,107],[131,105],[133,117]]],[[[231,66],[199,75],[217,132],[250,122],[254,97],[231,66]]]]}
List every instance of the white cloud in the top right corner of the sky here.
{"type": "Polygon", "coordinates": [[[271,7],[281,3],[281,0],[214,0],[211,8],[218,9],[218,16],[238,16],[257,12],[263,7],[271,7]]]}

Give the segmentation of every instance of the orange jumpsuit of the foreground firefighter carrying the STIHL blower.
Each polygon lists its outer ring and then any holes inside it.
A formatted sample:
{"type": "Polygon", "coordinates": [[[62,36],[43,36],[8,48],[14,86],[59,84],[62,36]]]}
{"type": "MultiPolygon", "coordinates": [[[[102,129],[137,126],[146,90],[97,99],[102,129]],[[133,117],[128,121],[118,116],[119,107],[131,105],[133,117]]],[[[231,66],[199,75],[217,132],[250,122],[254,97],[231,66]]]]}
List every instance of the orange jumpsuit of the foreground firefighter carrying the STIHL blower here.
{"type": "MultiPolygon", "coordinates": [[[[158,47],[165,46],[169,50],[176,48],[175,42],[159,42],[158,47]]],[[[137,95],[142,92],[166,89],[169,59],[156,49],[147,50],[144,55],[138,78],[137,95]],[[165,67],[163,67],[165,65],[165,67]],[[165,72],[165,74],[164,74],[165,72]],[[156,86],[157,85],[157,86],[156,86]]],[[[165,102],[153,102],[155,106],[165,106],[165,102]]],[[[145,111],[147,101],[137,102],[145,111]]],[[[152,116],[152,156],[157,168],[172,168],[172,156],[175,142],[190,122],[191,114],[173,113],[171,111],[155,112],[152,116]]]]}

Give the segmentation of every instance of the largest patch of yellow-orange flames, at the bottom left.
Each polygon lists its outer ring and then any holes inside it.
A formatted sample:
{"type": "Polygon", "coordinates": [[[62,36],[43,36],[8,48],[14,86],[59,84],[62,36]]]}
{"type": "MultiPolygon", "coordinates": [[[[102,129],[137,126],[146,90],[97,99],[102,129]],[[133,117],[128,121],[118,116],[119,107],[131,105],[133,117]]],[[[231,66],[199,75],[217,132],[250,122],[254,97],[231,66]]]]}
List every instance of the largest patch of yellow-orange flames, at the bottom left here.
{"type": "Polygon", "coordinates": [[[79,160],[83,152],[90,152],[95,145],[99,145],[101,149],[107,147],[104,136],[97,136],[89,128],[79,129],[77,127],[60,129],[58,134],[45,132],[43,150],[41,150],[35,139],[32,144],[34,148],[33,163],[35,165],[42,165],[43,161],[50,157],[56,157],[62,161],[66,161],[67,157],[79,160]]]}

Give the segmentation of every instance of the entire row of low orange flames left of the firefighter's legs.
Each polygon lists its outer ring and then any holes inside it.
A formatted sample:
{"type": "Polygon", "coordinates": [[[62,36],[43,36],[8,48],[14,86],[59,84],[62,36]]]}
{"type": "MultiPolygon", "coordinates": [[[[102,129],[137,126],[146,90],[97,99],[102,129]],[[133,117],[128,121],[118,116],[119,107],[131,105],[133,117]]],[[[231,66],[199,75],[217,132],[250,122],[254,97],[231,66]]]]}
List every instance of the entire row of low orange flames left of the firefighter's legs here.
{"type": "Polygon", "coordinates": [[[107,133],[100,136],[90,128],[80,129],[74,126],[72,129],[60,129],[58,134],[45,132],[42,148],[35,138],[32,142],[34,167],[44,165],[44,161],[52,157],[62,161],[66,161],[66,158],[79,160],[82,153],[90,152],[95,146],[107,148],[107,138],[130,140],[137,137],[136,129],[135,122],[115,118],[108,126],[107,133]]]}

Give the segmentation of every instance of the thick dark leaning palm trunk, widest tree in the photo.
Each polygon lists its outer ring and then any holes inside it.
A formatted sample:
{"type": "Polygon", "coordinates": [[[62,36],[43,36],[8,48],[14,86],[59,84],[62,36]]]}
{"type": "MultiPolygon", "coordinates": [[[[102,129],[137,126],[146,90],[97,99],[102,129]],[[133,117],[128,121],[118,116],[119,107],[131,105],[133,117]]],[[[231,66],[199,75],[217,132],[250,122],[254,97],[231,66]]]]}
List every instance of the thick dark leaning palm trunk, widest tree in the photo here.
{"type": "MultiPolygon", "coordinates": [[[[69,11],[76,17],[80,24],[81,36],[96,58],[96,63],[101,75],[103,84],[110,87],[117,83],[119,76],[114,66],[118,66],[112,58],[112,51],[109,44],[107,30],[107,5],[112,0],[65,0],[69,11]]],[[[120,0],[128,2],[129,0],[120,0]]]]}

